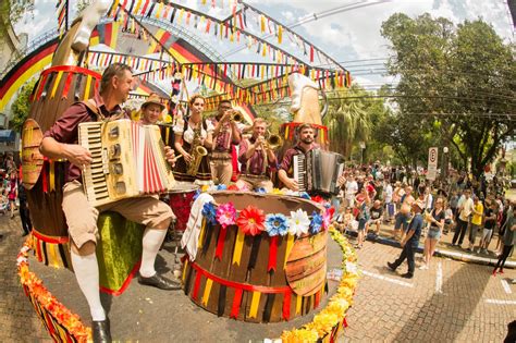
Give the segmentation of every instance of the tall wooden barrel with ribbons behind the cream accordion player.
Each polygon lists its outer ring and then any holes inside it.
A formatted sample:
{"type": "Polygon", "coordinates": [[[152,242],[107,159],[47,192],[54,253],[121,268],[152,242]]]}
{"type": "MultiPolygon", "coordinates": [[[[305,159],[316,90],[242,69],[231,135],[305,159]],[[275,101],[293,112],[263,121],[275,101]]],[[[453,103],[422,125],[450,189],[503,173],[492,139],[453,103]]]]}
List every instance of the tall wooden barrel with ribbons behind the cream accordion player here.
{"type": "MultiPolygon", "coordinates": [[[[45,160],[41,163],[41,157],[35,152],[36,147],[42,134],[72,103],[94,96],[100,78],[100,74],[84,68],[52,66],[41,73],[30,97],[29,120],[24,125],[22,137],[22,156],[25,164],[32,166],[27,170],[26,188],[35,252],[47,265],[71,267],[67,225],[61,208],[67,162],[45,160]]],[[[22,169],[24,176],[25,168],[22,169]]]]}

